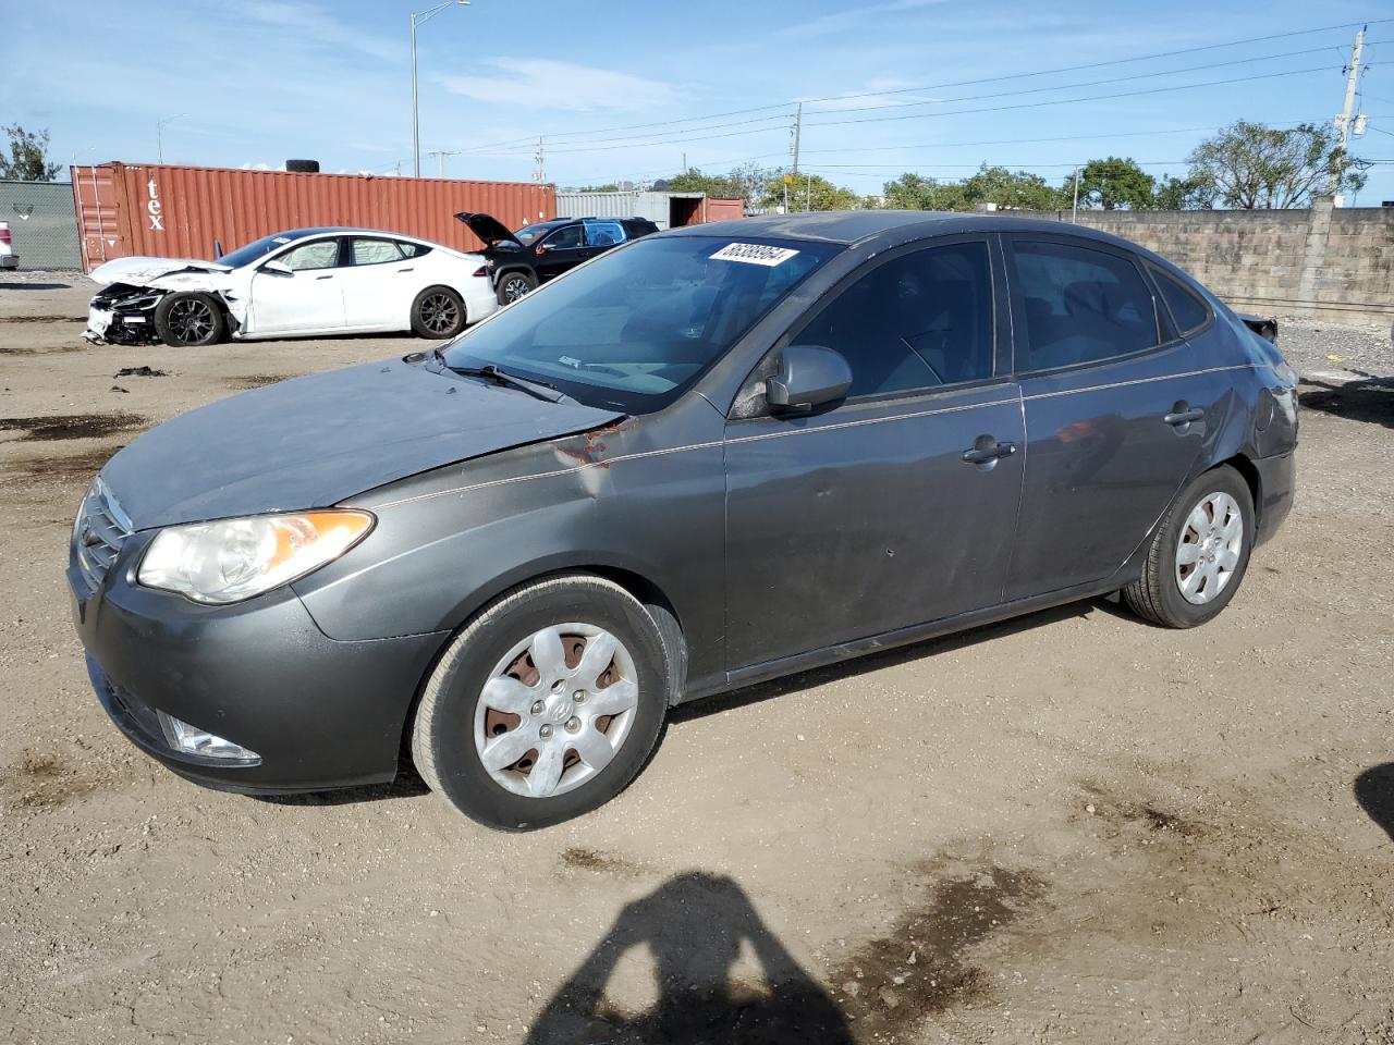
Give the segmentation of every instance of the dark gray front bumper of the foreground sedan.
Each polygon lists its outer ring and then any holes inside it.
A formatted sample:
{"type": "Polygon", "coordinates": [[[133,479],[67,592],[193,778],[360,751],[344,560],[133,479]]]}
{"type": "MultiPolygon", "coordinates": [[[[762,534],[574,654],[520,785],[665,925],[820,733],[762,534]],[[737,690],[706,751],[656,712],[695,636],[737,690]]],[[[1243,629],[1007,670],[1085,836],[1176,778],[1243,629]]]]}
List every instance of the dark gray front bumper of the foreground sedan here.
{"type": "Polygon", "coordinates": [[[220,607],[141,588],[128,574],[148,536],[127,542],[86,598],[81,571],[68,567],[93,688],[131,743],[223,790],[326,790],[396,776],[406,718],[443,634],[340,642],[287,588],[220,607]],[[166,741],[156,709],[261,761],[183,754],[166,741]]]}

